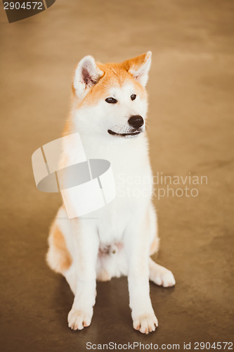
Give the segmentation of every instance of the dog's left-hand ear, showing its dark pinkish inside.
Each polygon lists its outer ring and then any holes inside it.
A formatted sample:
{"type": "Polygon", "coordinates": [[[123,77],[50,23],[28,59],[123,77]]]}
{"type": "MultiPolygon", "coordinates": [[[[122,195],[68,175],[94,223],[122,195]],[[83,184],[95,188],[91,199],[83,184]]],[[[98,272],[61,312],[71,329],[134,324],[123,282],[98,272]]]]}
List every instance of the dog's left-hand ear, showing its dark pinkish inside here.
{"type": "Polygon", "coordinates": [[[98,83],[103,75],[103,71],[98,68],[93,56],[84,56],[74,72],[73,86],[77,96],[82,95],[86,89],[98,83]]]}

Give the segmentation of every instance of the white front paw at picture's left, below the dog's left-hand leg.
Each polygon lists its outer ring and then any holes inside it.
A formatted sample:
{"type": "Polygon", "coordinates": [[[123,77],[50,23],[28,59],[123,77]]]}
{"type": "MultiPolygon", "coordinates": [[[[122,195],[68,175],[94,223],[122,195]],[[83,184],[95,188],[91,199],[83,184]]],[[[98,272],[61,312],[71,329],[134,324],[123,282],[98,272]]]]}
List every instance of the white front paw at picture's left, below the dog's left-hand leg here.
{"type": "Polygon", "coordinates": [[[76,310],[72,308],[68,313],[67,322],[72,330],[82,330],[84,327],[91,325],[93,308],[89,310],[76,310]]]}

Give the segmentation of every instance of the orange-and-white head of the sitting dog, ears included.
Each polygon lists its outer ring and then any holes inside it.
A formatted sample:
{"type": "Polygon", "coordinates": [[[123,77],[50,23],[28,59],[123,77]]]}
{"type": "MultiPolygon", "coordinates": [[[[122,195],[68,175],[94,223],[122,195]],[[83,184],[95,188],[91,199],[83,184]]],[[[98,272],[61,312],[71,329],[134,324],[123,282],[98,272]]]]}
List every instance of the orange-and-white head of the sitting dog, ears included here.
{"type": "Polygon", "coordinates": [[[108,138],[134,138],[145,131],[151,52],[122,63],[96,63],[85,56],[72,85],[74,120],[79,130],[108,138]]]}

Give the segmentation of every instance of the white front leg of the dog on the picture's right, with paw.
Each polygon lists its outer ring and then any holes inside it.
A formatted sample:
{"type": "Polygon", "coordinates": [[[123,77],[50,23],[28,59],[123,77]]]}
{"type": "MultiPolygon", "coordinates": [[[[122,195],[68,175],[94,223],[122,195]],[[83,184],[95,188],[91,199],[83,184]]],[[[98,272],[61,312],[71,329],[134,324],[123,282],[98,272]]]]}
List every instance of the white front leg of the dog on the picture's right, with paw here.
{"type": "Polygon", "coordinates": [[[138,221],[126,232],[125,249],[129,260],[129,305],[134,329],[143,334],[155,331],[157,318],[152,309],[149,284],[149,239],[147,223],[138,221]]]}

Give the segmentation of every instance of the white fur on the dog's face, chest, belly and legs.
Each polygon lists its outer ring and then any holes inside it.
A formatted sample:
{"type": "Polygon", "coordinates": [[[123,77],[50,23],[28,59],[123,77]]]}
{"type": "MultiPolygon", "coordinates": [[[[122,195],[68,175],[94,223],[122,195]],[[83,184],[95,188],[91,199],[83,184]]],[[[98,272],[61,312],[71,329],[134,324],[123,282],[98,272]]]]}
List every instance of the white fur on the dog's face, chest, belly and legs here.
{"type": "MultiPolygon", "coordinates": [[[[74,87],[84,98],[89,87],[84,87],[82,82],[82,65],[90,68],[93,77],[98,77],[100,70],[96,70],[93,58],[86,57],[79,63],[74,87]]],[[[136,73],[136,79],[141,76],[143,85],[146,84],[149,68],[150,62],[146,62],[136,73]]],[[[91,323],[96,278],[105,280],[128,275],[134,328],[143,333],[154,331],[157,327],[150,301],[149,278],[164,287],[175,284],[172,273],[154,263],[149,256],[150,245],[157,236],[157,218],[151,201],[152,183],[136,185],[127,182],[136,176],[147,180],[152,176],[145,126],[137,137],[118,137],[108,133],[108,130],[129,133],[128,119],[131,115],[141,115],[146,119],[146,99],[137,95],[136,100],[131,101],[131,94],[136,92],[129,80],[123,87],[110,88],[108,96],[117,99],[116,104],[109,104],[103,99],[93,106],[84,105],[79,109],[77,103],[72,106],[73,132],[79,132],[87,158],[110,161],[117,187],[114,201],[82,219],[66,220],[63,208],[56,217],[72,256],[71,267],[63,272],[74,292],[74,303],[68,315],[72,329],[83,329],[91,323]],[[136,188],[138,196],[131,195],[136,188]]],[[[72,146],[64,146],[66,158],[73,158],[73,153],[72,146]]],[[[63,166],[64,160],[62,158],[63,166]]]]}

